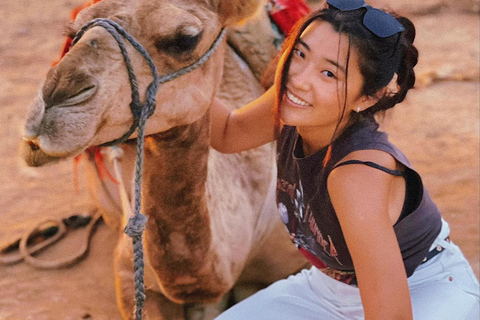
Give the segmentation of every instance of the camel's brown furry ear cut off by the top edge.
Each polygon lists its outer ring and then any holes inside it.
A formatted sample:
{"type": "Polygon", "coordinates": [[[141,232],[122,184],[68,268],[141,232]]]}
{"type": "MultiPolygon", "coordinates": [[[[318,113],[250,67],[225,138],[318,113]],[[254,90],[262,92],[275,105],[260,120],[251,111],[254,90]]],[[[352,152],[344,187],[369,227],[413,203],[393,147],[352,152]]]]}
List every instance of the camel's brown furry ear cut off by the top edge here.
{"type": "Polygon", "coordinates": [[[224,26],[231,26],[252,16],[262,0],[217,0],[220,21],[224,26]]]}

